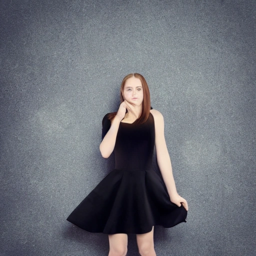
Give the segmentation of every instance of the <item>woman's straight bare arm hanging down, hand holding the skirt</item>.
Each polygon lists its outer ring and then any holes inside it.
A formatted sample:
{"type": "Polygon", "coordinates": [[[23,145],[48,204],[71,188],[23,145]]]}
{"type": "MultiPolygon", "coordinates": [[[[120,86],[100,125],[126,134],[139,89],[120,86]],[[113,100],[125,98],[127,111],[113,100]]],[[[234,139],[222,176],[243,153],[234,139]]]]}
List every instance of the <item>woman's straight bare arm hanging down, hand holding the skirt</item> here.
{"type": "Polygon", "coordinates": [[[181,203],[188,210],[187,202],[182,198],[176,190],[175,181],[172,174],[171,161],[164,138],[164,121],[162,114],[151,109],[150,112],[154,117],[154,128],[155,128],[155,151],[156,159],[159,169],[162,174],[163,181],[167,188],[170,200],[176,205],[180,206],[181,203]]]}

